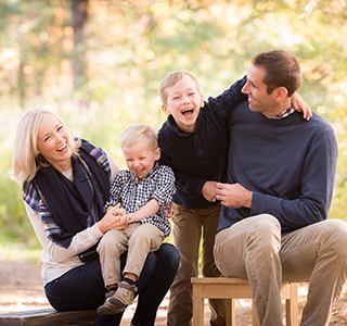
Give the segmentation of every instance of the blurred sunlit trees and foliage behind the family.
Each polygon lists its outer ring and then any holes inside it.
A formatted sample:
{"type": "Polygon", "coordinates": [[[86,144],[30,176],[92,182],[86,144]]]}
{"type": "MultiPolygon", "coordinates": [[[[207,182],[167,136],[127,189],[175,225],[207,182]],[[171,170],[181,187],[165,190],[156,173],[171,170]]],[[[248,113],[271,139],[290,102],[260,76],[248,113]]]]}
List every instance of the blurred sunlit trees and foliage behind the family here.
{"type": "Polygon", "coordinates": [[[9,178],[16,125],[52,109],[72,134],[118,146],[132,122],[165,121],[158,85],[188,70],[205,99],[245,75],[269,49],[301,64],[299,93],[336,131],[339,158],[331,217],[347,203],[346,0],[2,0],[0,2],[0,241],[36,243],[21,187],[9,178]]]}

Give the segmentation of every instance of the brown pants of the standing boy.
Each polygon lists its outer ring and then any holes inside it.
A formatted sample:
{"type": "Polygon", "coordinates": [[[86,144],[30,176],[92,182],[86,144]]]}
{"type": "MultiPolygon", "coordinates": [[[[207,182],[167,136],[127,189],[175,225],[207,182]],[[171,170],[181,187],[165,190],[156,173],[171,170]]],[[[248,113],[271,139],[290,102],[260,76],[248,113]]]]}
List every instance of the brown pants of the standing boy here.
{"type": "MultiPolygon", "coordinates": [[[[191,277],[198,276],[198,249],[203,231],[202,274],[220,276],[214,260],[214,242],[217,233],[220,204],[207,209],[189,210],[172,205],[174,240],[180,252],[180,265],[170,288],[167,324],[170,326],[191,325],[193,315],[191,277]]],[[[226,324],[226,301],[209,300],[213,326],[226,324]]]]}

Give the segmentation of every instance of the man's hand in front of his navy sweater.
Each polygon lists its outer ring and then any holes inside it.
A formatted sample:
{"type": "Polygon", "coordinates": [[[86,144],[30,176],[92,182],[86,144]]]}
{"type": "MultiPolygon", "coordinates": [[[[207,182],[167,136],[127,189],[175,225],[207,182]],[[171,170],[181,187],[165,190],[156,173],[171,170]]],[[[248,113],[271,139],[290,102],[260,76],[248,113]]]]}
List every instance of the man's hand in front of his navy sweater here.
{"type": "Polygon", "coordinates": [[[240,184],[217,184],[217,199],[224,206],[231,209],[252,206],[253,192],[240,184]]]}

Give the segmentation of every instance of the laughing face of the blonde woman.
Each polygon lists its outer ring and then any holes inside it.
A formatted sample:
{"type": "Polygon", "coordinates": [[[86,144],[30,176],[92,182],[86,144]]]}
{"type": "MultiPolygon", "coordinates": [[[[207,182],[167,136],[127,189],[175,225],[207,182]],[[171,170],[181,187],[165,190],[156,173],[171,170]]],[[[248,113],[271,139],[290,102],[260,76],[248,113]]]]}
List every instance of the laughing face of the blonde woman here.
{"type": "Polygon", "coordinates": [[[57,171],[72,167],[72,150],[67,128],[52,114],[42,115],[38,135],[37,150],[57,171]]]}

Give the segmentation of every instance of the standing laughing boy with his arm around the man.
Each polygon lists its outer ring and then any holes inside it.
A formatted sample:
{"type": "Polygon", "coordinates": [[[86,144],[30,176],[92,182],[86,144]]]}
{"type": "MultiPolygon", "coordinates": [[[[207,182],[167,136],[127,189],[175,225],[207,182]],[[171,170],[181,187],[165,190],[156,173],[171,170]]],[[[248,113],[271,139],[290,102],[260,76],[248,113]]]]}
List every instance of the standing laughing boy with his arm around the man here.
{"type": "MultiPolygon", "coordinates": [[[[168,116],[158,133],[159,164],[170,166],[176,175],[177,192],[171,218],[175,244],[181,256],[170,288],[169,326],[191,324],[191,277],[198,275],[202,230],[202,274],[205,277],[221,276],[213,254],[221,208],[216,201],[216,185],[223,179],[227,163],[228,117],[233,108],[247,99],[241,92],[246,82],[243,77],[222,95],[209,98],[208,102],[203,100],[196,78],[188,72],[168,73],[159,86],[162,109],[168,116]]],[[[304,116],[309,116],[305,103],[300,102],[299,106],[304,116]]],[[[224,325],[224,300],[209,300],[209,305],[210,325],[224,325]]]]}

